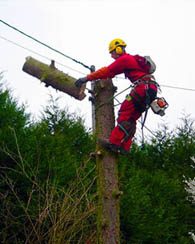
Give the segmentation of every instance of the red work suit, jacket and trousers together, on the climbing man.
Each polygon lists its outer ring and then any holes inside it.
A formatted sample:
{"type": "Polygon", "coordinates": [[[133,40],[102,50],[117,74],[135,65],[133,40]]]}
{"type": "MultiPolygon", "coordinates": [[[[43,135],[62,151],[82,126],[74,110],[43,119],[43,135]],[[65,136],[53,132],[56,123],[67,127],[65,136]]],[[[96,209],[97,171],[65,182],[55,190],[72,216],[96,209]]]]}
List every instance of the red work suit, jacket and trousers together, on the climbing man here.
{"type": "MultiPolygon", "coordinates": [[[[136,131],[136,121],[140,118],[142,112],[146,109],[146,90],[149,92],[150,102],[156,97],[157,87],[154,83],[144,84],[141,81],[149,81],[152,76],[140,67],[133,55],[123,53],[108,67],[103,67],[87,76],[88,80],[113,78],[115,75],[124,73],[132,83],[140,81],[130,92],[129,96],[121,104],[117,125],[112,130],[109,141],[114,145],[129,150],[132,139],[136,131]],[[125,130],[121,129],[127,124],[125,130]],[[123,125],[121,127],[121,125],[123,125]],[[129,136],[127,136],[129,132],[129,136]]],[[[152,77],[154,80],[154,77],[152,77]]]]}

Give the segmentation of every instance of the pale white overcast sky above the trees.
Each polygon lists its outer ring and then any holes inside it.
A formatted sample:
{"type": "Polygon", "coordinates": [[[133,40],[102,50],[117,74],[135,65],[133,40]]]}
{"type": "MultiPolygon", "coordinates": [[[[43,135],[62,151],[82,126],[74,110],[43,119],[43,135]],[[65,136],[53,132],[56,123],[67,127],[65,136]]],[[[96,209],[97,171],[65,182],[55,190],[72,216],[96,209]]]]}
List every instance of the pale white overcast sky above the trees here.
{"type": "MultiPolygon", "coordinates": [[[[163,117],[149,111],[145,125],[151,131],[161,125],[174,130],[184,115],[195,118],[194,11],[194,0],[0,0],[1,20],[96,69],[114,61],[108,45],[115,38],[123,39],[132,55],[150,55],[157,65],[155,78],[162,90],[158,96],[169,103],[163,117]]],[[[90,95],[86,92],[86,98],[78,101],[46,88],[22,71],[28,56],[46,64],[53,59],[59,70],[76,79],[89,73],[80,64],[0,22],[0,72],[19,103],[25,103],[27,112],[39,119],[50,96],[59,97],[60,108],[81,115],[90,128],[90,95]]],[[[123,75],[114,78],[113,83],[118,92],[130,85],[123,75]]],[[[122,102],[127,94],[123,92],[117,99],[122,102]]],[[[118,109],[116,106],[116,117],[118,109]]],[[[138,133],[140,127],[138,123],[138,133]]]]}

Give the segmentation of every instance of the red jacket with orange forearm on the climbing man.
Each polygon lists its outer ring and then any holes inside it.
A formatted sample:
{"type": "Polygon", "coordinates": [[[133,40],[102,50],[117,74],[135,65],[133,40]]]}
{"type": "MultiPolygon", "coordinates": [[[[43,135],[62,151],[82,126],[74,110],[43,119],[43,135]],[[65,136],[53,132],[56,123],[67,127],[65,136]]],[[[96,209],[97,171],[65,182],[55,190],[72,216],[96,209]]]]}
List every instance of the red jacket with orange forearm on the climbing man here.
{"type": "Polygon", "coordinates": [[[127,77],[131,82],[134,82],[148,74],[139,66],[134,56],[124,53],[108,67],[103,67],[87,75],[87,79],[90,81],[113,78],[115,75],[122,73],[124,73],[125,77],[127,77]]]}

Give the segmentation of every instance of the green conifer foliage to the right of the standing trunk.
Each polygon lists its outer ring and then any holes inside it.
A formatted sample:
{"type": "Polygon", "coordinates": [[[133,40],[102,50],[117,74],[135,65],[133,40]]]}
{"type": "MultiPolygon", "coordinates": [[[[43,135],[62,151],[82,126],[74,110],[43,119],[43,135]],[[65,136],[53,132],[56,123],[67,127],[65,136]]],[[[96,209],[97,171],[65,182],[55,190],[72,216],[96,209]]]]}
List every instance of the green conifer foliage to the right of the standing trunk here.
{"type": "Polygon", "coordinates": [[[124,243],[193,243],[195,203],[186,181],[195,175],[194,133],[192,122],[184,119],[175,133],[165,128],[144,151],[133,145],[131,154],[121,158],[124,243]]]}

